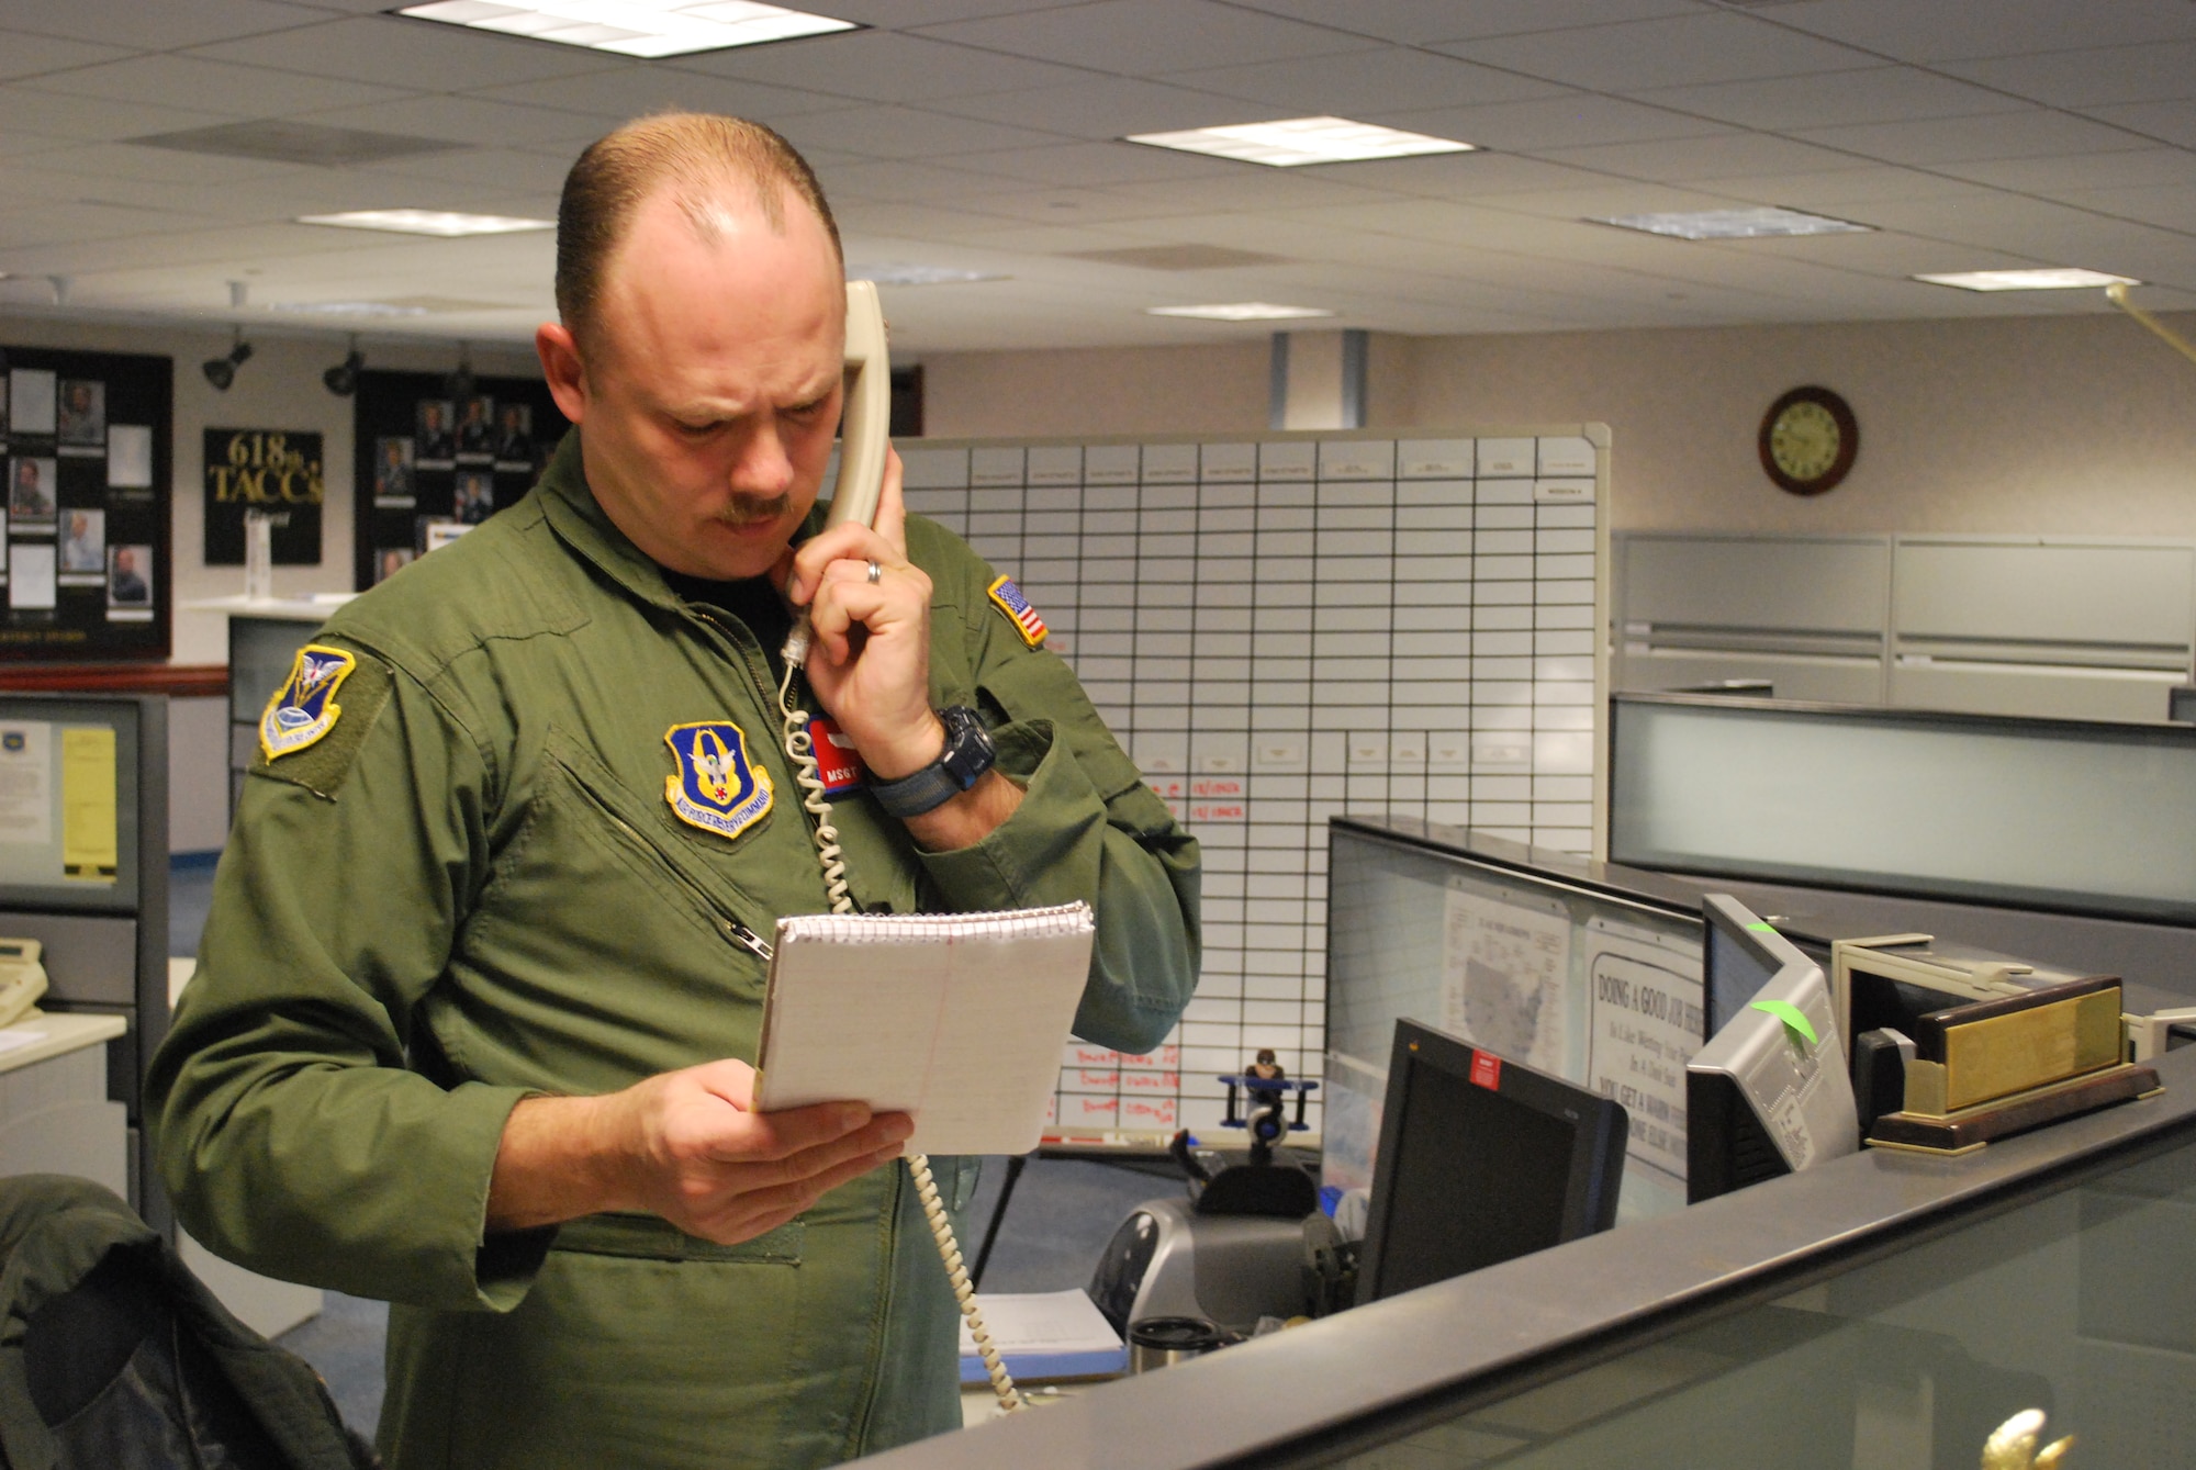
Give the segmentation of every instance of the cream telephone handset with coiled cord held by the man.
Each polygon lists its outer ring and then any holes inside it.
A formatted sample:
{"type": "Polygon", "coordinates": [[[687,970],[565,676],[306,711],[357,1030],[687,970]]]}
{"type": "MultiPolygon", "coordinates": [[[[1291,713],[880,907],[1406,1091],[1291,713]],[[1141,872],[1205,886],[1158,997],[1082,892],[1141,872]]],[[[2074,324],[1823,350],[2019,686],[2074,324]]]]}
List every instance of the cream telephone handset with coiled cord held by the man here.
{"type": "MultiPolygon", "coordinates": [[[[839,485],[832,489],[830,513],[824,527],[843,520],[876,524],[876,502],[885,494],[885,450],[892,432],[892,362],[885,349],[885,312],[876,301],[876,281],[845,283],[845,417],[839,428],[839,485]]],[[[793,632],[784,647],[786,676],[777,685],[777,706],[784,715],[786,755],[793,757],[793,779],[802,788],[802,807],[815,829],[817,862],[824,864],[824,893],[832,913],[854,913],[854,895],[845,886],[845,856],[839,851],[839,829],[830,821],[830,803],[824,801],[824,779],[817,774],[815,739],[808,733],[808,713],[793,702],[793,678],[808,660],[808,610],[793,619],[793,632]]],[[[993,1389],[1006,1409],[1021,1409],[1021,1393],[999,1360],[999,1349],[990,1343],[984,1314],[975,1305],[975,1288],[962,1264],[960,1242],[953,1240],[953,1222],[938,1198],[938,1180],[931,1178],[931,1161],[922,1154],[907,1156],[907,1172],[916,1180],[916,1198],[929,1220],[938,1255],[944,1259],[946,1279],[960,1301],[962,1316],[968,1319],[968,1334],[984,1356],[993,1389]]]]}

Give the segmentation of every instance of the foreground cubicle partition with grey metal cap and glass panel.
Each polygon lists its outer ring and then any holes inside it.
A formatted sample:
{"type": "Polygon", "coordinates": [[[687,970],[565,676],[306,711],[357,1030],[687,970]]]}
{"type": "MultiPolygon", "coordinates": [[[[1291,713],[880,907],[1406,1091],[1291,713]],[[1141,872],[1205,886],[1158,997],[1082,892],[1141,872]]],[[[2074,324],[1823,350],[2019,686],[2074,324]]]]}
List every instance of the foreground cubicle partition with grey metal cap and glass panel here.
{"type": "Polygon", "coordinates": [[[2165,1090],[1816,1169],[876,1457],[878,1470],[1985,1461],[2196,1444],[2196,1051],[2165,1090]]]}

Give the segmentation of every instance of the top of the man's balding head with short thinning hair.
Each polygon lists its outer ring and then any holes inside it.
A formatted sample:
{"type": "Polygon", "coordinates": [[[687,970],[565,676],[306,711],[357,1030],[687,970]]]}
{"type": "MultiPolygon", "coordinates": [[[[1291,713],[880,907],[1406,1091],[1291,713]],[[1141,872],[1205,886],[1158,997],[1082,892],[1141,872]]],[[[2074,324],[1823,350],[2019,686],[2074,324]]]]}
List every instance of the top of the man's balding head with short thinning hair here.
{"type": "Polygon", "coordinates": [[[701,239],[716,244],[753,211],[784,235],[788,195],[824,224],[843,263],[839,224],[815,171],[762,123],[707,112],[663,112],[589,145],[564,176],[556,226],[556,305],[589,344],[602,316],[604,274],[632,217],[668,193],[701,239]]]}

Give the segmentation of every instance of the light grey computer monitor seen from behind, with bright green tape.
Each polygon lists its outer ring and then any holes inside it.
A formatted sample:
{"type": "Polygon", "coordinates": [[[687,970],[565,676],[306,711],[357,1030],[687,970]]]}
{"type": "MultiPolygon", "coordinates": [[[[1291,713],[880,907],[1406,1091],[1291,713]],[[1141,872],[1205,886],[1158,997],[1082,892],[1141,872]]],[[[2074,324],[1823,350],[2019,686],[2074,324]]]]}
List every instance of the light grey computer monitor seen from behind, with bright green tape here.
{"type": "Polygon", "coordinates": [[[1860,1150],[1823,968],[1728,893],[1706,895],[1702,917],[1733,1007],[1684,1068],[1689,1205],[1860,1150]]]}

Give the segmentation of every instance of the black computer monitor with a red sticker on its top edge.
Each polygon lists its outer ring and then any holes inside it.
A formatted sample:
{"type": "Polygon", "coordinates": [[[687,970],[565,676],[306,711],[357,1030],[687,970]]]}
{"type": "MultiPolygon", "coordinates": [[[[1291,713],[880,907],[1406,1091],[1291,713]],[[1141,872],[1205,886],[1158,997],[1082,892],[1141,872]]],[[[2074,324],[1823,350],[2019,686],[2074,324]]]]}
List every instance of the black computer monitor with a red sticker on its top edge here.
{"type": "Polygon", "coordinates": [[[1610,1229],[1627,1134],[1610,1097],[1394,1022],[1357,1301],[1610,1229]]]}

